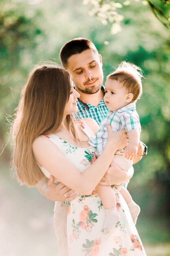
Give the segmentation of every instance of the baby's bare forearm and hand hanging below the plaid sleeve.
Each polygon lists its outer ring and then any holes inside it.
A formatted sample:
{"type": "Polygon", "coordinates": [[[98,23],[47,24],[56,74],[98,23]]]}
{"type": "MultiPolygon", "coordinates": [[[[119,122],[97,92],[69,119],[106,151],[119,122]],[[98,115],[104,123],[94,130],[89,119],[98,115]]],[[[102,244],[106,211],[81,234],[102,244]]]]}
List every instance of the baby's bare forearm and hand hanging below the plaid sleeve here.
{"type": "Polygon", "coordinates": [[[127,159],[134,159],[137,156],[137,149],[140,141],[140,133],[138,130],[128,132],[129,144],[124,150],[124,156],[127,159]]]}

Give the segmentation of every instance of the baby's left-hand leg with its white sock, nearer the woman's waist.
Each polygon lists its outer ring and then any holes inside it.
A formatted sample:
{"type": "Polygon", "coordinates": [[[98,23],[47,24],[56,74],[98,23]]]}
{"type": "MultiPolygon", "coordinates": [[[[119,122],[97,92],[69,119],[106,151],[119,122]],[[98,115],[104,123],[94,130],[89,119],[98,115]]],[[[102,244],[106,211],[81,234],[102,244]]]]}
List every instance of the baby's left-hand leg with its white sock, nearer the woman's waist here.
{"type": "Polygon", "coordinates": [[[104,222],[104,234],[108,234],[110,230],[119,221],[120,216],[116,209],[116,197],[111,186],[97,185],[96,191],[102,200],[103,207],[106,213],[104,222]]]}

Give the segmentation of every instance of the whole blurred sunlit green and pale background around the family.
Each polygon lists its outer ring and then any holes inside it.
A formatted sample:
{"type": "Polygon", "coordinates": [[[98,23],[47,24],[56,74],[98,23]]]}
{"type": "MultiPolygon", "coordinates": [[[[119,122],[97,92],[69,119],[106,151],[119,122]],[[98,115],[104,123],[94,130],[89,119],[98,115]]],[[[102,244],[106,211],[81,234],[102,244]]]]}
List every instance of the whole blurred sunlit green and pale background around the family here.
{"type": "MultiPolygon", "coordinates": [[[[60,63],[66,41],[92,40],[105,78],[121,61],[135,63],[145,77],[137,111],[148,155],[135,164],[128,189],[141,207],[137,229],[147,255],[170,256],[170,29],[144,1],[119,10],[124,20],[117,34],[111,23],[89,16],[90,9],[83,0],[0,1],[0,143],[8,139],[7,119],[29,70],[41,59],[60,63]]],[[[0,255],[57,256],[54,202],[12,179],[9,162],[10,143],[0,156],[0,255]]]]}

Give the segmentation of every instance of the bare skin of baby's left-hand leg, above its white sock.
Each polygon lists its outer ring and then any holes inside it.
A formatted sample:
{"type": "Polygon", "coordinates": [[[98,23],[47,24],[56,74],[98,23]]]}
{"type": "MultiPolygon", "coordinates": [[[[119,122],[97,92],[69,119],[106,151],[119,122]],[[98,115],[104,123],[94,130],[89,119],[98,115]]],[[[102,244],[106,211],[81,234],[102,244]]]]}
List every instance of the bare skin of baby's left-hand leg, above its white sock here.
{"type": "Polygon", "coordinates": [[[104,209],[116,207],[116,197],[111,186],[102,186],[98,184],[95,189],[102,200],[104,209]]]}

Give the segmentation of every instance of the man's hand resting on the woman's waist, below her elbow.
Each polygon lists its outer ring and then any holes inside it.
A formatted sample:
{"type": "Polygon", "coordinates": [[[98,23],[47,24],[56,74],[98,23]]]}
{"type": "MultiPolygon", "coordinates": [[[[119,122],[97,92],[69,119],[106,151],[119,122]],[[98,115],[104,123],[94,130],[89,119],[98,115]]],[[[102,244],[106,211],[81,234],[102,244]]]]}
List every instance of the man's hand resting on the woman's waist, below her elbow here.
{"type": "Polygon", "coordinates": [[[65,186],[63,183],[55,184],[55,177],[50,175],[50,178],[47,182],[47,179],[42,180],[38,183],[37,189],[40,193],[52,201],[72,201],[77,197],[77,194],[74,194],[75,191],[65,186]]]}

